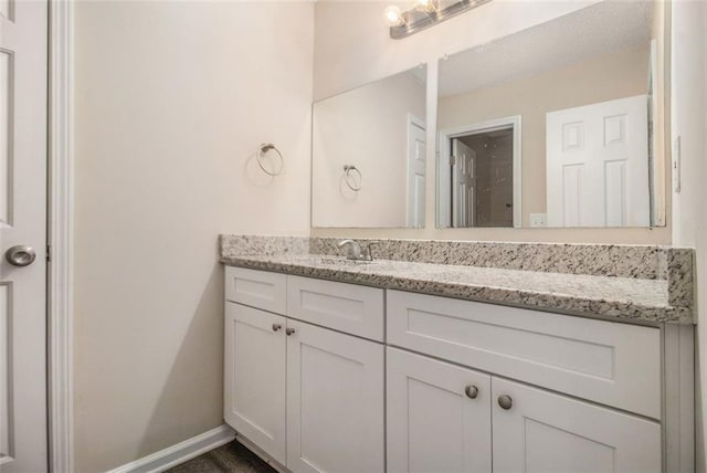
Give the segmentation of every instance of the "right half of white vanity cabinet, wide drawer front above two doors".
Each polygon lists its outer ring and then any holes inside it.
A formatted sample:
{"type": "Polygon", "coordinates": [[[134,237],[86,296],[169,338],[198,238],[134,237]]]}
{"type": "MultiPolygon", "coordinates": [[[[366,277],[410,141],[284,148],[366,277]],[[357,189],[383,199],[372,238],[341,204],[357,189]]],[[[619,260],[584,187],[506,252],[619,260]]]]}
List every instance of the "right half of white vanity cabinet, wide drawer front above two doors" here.
{"type": "Polygon", "coordinates": [[[389,344],[489,372],[389,347],[389,472],[662,471],[659,422],[593,402],[661,418],[658,329],[398,291],[387,309],[389,344]]]}

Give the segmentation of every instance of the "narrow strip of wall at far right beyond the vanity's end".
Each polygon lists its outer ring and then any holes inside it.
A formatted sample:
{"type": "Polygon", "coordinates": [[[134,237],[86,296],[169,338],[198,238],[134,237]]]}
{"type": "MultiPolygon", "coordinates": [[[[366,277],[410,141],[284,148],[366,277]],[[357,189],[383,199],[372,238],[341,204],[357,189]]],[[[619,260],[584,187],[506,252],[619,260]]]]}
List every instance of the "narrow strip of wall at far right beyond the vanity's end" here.
{"type": "Polygon", "coordinates": [[[707,3],[673,2],[673,137],[682,141],[682,190],[673,195],[673,241],[697,256],[696,459],[705,472],[707,453],[707,3]]]}

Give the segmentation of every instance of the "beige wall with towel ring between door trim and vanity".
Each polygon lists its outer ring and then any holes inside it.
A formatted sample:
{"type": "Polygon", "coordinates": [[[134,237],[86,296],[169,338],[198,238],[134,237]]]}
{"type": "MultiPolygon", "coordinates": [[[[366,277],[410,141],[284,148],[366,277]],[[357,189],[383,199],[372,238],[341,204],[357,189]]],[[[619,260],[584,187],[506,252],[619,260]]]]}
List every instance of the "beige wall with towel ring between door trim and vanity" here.
{"type": "Polygon", "coordinates": [[[313,4],[77,2],[75,453],[222,423],[221,232],[306,235],[313,4]],[[285,157],[265,179],[262,141],[285,157]]]}

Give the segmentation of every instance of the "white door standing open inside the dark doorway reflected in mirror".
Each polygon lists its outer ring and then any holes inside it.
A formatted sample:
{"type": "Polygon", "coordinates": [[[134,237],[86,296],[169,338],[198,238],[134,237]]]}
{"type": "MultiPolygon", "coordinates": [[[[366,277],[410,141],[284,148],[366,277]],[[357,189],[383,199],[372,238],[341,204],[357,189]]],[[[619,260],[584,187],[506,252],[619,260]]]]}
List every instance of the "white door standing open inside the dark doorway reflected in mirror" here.
{"type": "Polygon", "coordinates": [[[452,225],[476,225],[476,151],[452,139],[452,225]]]}

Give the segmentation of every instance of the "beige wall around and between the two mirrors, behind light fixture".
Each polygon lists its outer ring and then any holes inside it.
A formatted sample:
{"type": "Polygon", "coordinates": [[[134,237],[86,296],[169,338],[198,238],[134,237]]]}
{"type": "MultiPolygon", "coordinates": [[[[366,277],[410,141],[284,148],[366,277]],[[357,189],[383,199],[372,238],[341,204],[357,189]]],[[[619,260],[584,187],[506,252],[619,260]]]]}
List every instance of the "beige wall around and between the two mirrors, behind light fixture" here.
{"type": "MultiPolygon", "coordinates": [[[[409,3],[398,2],[402,8],[409,3]]],[[[569,1],[494,1],[404,40],[392,40],[381,18],[387,3],[320,0],[315,7],[314,96],[326,97],[360,84],[428,63],[428,82],[436,90],[437,59],[537,25],[595,3],[569,1]]],[[[436,93],[428,94],[428,123],[436,119],[436,93]]],[[[434,130],[428,127],[428,157],[434,156],[434,130]]],[[[669,228],[657,229],[440,229],[434,227],[434,160],[428,159],[424,229],[315,229],[318,236],[435,238],[499,241],[669,243],[669,228]]]]}

